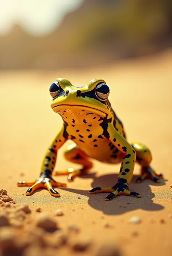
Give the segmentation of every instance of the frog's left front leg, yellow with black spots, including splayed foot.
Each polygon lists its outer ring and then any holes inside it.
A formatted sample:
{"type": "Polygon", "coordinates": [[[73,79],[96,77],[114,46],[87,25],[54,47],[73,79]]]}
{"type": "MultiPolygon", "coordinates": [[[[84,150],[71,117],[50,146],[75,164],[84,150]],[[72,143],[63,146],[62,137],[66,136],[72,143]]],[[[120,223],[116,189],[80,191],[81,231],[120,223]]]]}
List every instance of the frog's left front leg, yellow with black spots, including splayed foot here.
{"type": "Polygon", "coordinates": [[[38,188],[46,188],[49,193],[55,197],[60,196],[60,194],[54,190],[53,187],[66,187],[66,184],[56,182],[52,178],[52,172],[57,158],[57,151],[65,143],[67,138],[64,137],[65,126],[62,127],[61,131],[57,134],[56,138],[51,143],[50,147],[46,151],[45,157],[41,166],[40,177],[32,182],[20,181],[17,186],[30,186],[26,191],[26,195],[31,195],[38,188]]]}

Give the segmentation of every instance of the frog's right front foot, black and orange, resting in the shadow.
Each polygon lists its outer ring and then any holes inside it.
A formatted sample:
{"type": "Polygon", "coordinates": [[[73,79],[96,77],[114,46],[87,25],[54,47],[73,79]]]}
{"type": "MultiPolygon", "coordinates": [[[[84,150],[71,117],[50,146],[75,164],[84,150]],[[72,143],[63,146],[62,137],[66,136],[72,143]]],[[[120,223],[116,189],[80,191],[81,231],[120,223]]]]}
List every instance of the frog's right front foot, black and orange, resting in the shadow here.
{"type": "Polygon", "coordinates": [[[97,193],[109,193],[108,196],[106,196],[105,200],[109,201],[115,196],[119,195],[127,195],[127,196],[135,196],[135,197],[141,197],[141,195],[137,192],[130,192],[128,190],[128,187],[126,185],[121,185],[121,184],[116,184],[113,187],[106,187],[106,188],[101,188],[101,187],[96,187],[93,188],[89,191],[89,194],[97,194],[97,193]]]}

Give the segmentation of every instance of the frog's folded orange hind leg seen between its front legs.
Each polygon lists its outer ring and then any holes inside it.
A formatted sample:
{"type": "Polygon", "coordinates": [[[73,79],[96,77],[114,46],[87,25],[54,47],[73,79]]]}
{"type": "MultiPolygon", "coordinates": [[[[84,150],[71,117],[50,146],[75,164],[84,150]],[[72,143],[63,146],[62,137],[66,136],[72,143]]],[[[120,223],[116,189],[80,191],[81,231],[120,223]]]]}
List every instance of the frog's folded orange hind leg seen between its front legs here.
{"type": "Polygon", "coordinates": [[[73,163],[78,163],[81,164],[83,167],[79,170],[74,170],[73,168],[68,168],[65,171],[57,171],[54,172],[54,175],[68,175],[67,180],[73,181],[73,179],[76,176],[80,176],[82,174],[86,174],[92,167],[93,163],[90,162],[87,157],[87,155],[79,149],[79,147],[73,143],[67,147],[67,149],[64,152],[64,157],[66,160],[73,162],[73,163]]]}

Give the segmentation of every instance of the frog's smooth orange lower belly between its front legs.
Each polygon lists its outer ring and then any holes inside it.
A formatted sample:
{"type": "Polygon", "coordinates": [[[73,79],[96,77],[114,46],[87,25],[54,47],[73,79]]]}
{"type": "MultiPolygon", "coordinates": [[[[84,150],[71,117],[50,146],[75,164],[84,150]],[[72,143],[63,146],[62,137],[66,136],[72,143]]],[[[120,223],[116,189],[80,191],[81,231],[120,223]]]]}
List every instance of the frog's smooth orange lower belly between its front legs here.
{"type": "Polygon", "coordinates": [[[85,145],[77,143],[77,145],[88,157],[104,163],[120,163],[124,157],[122,152],[116,149],[110,141],[105,139],[93,143],[85,143],[85,145]]]}

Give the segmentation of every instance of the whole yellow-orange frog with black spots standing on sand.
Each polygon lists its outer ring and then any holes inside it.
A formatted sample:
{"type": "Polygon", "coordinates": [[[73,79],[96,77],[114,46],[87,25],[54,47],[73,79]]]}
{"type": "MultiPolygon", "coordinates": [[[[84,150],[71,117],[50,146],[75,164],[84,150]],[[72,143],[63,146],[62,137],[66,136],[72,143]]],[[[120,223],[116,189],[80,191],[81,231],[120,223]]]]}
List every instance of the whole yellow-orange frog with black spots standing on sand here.
{"type": "Polygon", "coordinates": [[[34,181],[20,181],[17,186],[29,186],[26,195],[31,195],[38,188],[45,188],[54,197],[60,193],[54,187],[66,187],[66,183],[57,182],[54,176],[67,175],[68,182],[75,177],[89,173],[94,160],[108,164],[120,163],[118,180],[111,187],[95,187],[89,194],[108,193],[109,201],[119,195],[140,198],[138,192],[130,191],[135,163],[141,167],[137,183],[152,179],[159,183],[163,174],[151,167],[152,153],[139,142],[129,143],[122,121],[115,114],[108,99],[110,87],[105,80],[93,79],[83,86],[75,86],[66,78],[57,78],[49,87],[52,97],[51,108],[62,118],[62,127],[46,150],[41,165],[40,177],[34,181]],[[54,171],[57,153],[68,140],[66,160],[81,165],[74,170],[54,171]]]}

